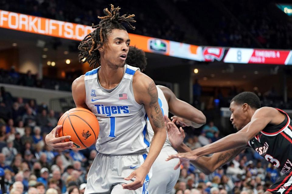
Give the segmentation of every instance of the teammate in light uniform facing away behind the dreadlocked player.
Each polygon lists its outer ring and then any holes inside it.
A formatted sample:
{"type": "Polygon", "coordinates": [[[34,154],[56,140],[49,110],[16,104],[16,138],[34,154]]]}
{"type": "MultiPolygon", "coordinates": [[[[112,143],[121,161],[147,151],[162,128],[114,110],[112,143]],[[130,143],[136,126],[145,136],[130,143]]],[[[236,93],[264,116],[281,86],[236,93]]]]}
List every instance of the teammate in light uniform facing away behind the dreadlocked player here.
{"type": "MultiPolygon", "coordinates": [[[[130,46],[126,63],[140,68],[141,72],[143,72],[147,65],[144,51],[130,46]]],[[[201,111],[189,105],[188,103],[177,99],[175,94],[169,88],[162,85],[157,85],[157,90],[158,103],[162,113],[167,118],[168,113],[171,112],[173,115],[177,115],[183,118],[182,119],[174,116],[173,119],[173,122],[178,122],[182,125],[191,125],[195,128],[198,128],[206,123],[206,117],[201,111]]],[[[148,125],[148,132],[151,140],[154,134],[151,125],[148,125]]],[[[182,128],[181,132],[183,132],[182,128]]],[[[179,159],[172,162],[166,162],[165,159],[168,158],[169,155],[177,153],[174,148],[179,145],[174,142],[170,142],[168,137],[166,138],[163,148],[152,166],[153,172],[148,186],[148,191],[150,194],[169,194],[172,192],[172,189],[174,188],[180,173],[180,169],[174,170],[173,168],[179,162],[179,159]]]]}

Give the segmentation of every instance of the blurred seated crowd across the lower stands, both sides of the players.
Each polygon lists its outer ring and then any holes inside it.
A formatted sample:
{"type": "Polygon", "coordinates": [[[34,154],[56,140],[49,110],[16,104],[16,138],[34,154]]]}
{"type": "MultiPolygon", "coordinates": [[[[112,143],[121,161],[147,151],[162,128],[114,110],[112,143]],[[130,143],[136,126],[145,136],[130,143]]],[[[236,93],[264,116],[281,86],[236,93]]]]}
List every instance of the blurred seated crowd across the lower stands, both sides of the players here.
{"type": "MultiPolygon", "coordinates": [[[[61,194],[84,192],[87,172],[96,156],[89,149],[52,150],[45,135],[57,125],[62,113],[36,105],[33,99],[13,98],[0,90],[0,184],[2,193],[61,194]]],[[[186,134],[186,145],[196,149],[220,138],[220,127],[210,121],[186,134]]],[[[188,132],[188,130],[186,130],[188,132]]],[[[250,149],[210,175],[190,163],[181,166],[173,193],[177,194],[263,194],[280,176],[250,149]]]]}

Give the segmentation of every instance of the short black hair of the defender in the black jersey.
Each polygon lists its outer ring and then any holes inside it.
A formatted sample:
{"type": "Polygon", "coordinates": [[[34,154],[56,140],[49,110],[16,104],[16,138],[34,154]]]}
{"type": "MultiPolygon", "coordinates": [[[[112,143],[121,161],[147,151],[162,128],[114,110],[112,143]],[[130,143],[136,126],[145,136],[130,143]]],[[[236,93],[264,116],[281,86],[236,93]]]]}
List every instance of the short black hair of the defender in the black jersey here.
{"type": "Polygon", "coordinates": [[[259,97],[253,92],[241,92],[231,100],[231,102],[233,101],[238,105],[247,103],[253,109],[261,108],[259,97]]]}

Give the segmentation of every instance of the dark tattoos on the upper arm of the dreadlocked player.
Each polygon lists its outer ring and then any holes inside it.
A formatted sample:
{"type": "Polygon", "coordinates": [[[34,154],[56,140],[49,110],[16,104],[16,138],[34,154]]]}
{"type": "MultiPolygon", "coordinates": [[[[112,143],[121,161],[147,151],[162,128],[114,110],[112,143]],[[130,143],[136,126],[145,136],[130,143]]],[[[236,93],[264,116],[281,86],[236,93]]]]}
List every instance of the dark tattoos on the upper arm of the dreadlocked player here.
{"type": "Polygon", "coordinates": [[[164,127],[164,119],[160,107],[158,105],[158,93],[156,89],[156,85],[152,82],[148,87],[148,94],[151,97],[151,101],[149,103],[151,107],[150,117],[153,121],[153,124],[157,128],[164,127]],[[154,110],[154,111],[153,111],[154,110]]]}

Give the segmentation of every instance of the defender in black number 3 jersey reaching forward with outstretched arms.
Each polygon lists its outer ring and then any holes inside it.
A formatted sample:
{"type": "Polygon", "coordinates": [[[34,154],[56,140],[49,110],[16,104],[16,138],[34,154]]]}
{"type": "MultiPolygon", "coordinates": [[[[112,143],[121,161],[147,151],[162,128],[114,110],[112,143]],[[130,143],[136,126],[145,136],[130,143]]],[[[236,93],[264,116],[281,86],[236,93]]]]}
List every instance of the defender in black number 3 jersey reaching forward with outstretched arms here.
{"type": "MultiPolygon", "coordinates": [[[[292,194],[292,123],[287,113],[272,107],[260,108],[259,98],[252,92],[236,95],[229,109],[230,121],[238,132],[195,150],[182,143],[178,151],[186,153],[171,155],[167,160],[179,158],[176,168],[191,160],[202,172],[210,174],[251,147],[285,173],[264,194],[292,194]],[[212,153],[210,157],[205,156],[212,153]]],[[[178,129],[173,126],[169,130],[178,129]]],[[[169,136],[169,139],[176,137],[169,136]]]]}

